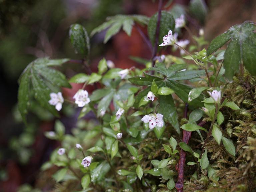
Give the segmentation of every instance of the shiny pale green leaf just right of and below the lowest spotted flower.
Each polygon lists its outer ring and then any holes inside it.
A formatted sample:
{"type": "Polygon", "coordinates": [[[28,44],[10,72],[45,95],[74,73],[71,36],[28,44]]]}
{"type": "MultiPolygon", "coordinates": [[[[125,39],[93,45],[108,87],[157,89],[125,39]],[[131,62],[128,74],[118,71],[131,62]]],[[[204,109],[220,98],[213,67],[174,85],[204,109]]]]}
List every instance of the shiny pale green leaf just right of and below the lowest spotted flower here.
{"type": "Polygon", "coordinates": [[[95,169],[91,171],[91,181],[93,183],[101,181],[109,170],[110,165],[107,161],[103,161],[101,164],[99,164],[95,169]]]}

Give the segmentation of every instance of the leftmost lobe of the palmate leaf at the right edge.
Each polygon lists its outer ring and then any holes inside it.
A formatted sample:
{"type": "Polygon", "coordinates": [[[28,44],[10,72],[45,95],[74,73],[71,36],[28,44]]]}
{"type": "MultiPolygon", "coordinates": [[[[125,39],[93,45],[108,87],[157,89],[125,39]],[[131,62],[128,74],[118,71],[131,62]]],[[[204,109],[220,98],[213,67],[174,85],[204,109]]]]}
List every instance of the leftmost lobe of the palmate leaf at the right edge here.
{"type": "Polygon", "coordinates": [[[231,33],[228,30],[225,33],[222,33],[221,35],[213,39],[207,48],[207,56],[221,48],[226,42],[228,42],[228,40],[230,40],[230,38],[231,33]]]}

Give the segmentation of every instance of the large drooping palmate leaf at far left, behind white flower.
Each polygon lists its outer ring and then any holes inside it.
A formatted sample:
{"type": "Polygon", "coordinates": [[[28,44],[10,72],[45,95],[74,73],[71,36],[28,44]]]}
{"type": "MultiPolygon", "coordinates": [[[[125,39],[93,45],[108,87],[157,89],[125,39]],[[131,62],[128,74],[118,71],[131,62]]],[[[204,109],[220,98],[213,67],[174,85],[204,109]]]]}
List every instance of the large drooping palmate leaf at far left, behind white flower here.
{"type": "Polygon", "coordinates": [[[29,95],[33,96],[38,103],[50,111],[53,115],[59,116],[54,106],[50,105],[50,93],[57,92],[60,87],[71,87],[61,72],[48,66],[59,66],[69,59],[39,58],[28,64],[19,79],[18,108],[23,121],[26,123],[26,114],[29,107],[29,95]],[[30,90],[33,89],[33,92],[30,90]]]}

